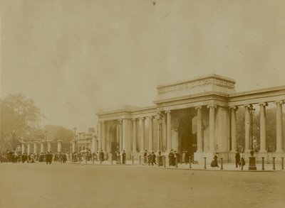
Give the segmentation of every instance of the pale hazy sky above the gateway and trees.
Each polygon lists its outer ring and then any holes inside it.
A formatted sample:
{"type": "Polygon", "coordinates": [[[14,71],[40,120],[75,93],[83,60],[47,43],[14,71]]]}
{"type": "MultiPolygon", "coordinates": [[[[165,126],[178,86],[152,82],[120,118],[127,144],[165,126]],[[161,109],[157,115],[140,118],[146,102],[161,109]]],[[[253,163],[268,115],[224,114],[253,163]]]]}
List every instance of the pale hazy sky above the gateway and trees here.
{"type": "Polygon", "coordinates": [[[1,8],[1,96],[45,124],[95,127],[98,109],[153,105],[158,84],[210,73],[236,91],[284,85],[285,1],[12,1],[1,8]],[[155,2],[155,3],[153,3],[155,2]]]}

